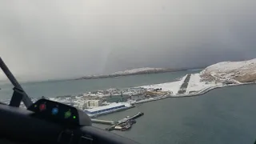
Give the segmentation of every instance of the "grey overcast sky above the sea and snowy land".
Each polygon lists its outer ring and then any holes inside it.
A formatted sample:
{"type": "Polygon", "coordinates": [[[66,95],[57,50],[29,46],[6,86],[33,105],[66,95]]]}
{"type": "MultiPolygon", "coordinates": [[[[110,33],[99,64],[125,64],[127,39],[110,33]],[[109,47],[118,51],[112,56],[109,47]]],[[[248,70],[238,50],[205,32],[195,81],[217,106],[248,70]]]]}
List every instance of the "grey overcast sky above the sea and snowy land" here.
{"type": "Polygon", "coordinates": [[[18,78],[256,58],[255,0],[0,1],[0,54],[18,78]]]}

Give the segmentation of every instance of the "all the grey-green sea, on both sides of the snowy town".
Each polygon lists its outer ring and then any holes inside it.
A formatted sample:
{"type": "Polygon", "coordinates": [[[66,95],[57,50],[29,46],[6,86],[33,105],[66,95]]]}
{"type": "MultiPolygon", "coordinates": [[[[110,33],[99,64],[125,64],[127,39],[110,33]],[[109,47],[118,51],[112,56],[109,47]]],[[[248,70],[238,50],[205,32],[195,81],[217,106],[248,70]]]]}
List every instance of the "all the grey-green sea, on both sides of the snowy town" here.
{"type": "MultiPolygon", "coordinates": [[[[135,75],[119,78],[22,83],[30,97],[81,94],[91,90],[172,82],[188,73],[135,75]]],[[[0,98],[10,98],[11,86],[0,85],[0,98]],[[9,94],[9,95],[8,95],[9,94]]],[[[231,86],[187,98],[166,98],[98,118],[118,120],[143,112],[127,131],[115,134],[145,144],[246,144],[256,140],[256,85],[231,86]]],[[[106,128],[105,125],[95,125],[106,128]]]]}

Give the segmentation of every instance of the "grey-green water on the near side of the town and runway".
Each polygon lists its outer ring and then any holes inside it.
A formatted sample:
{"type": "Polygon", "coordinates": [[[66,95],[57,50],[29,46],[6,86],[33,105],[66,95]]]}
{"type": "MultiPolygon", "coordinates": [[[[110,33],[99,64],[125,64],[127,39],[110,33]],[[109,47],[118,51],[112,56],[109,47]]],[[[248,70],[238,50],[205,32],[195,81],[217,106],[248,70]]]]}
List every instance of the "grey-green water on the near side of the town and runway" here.
{"type": "Polygon", "coordinates": [[[117,120],[143,112],[130,130],[113,132],[145,144],[254,143],[255,88],[256,85],[231,86],[196,97],[166,98],[99,119],[117,120]]]}

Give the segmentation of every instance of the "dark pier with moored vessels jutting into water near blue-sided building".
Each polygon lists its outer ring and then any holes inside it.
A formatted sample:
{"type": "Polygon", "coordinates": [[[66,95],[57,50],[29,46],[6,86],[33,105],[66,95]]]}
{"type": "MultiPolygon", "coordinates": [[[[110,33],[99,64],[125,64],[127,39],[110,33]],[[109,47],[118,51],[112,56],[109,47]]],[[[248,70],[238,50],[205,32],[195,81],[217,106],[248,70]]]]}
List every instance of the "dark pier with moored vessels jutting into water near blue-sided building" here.
{"type": "Polygon", "coordinates": [[[110,125],[110,127],[106,128],[106,130],[111,131],[111,130],[120,130],[120,131],[125,131],[129,130],[134,123],[136,123],[136,118],[141,117],[144,115],[142,112],[138,112],[138,114],[134,114],[133,116],[126,116],[126,118],[122,118],[116,122],[114,121],[109,121],[109,120],[102,120],[102,119],[91,119],[92,122],[94,123],[100,123],[103,125],[110,125]]]}

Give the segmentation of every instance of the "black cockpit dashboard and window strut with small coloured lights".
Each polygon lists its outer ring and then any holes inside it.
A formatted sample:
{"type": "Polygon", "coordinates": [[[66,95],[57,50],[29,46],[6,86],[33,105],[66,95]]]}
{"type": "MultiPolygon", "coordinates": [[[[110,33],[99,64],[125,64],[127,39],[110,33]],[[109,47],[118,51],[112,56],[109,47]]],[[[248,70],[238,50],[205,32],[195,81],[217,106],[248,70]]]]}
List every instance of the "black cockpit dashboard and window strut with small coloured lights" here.
{"type": "Polygon", "coordinates": [[[32,102],[0,58],[0,66],[14,86],[10,104],[0,103],[0,143],[133,144],[138,143],[92,126],[82,110],[59,102],[32,102]],[[21,102],[27,109],[20,108],[21,102]]]}

